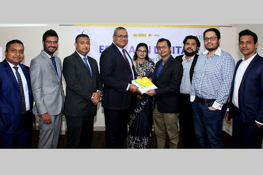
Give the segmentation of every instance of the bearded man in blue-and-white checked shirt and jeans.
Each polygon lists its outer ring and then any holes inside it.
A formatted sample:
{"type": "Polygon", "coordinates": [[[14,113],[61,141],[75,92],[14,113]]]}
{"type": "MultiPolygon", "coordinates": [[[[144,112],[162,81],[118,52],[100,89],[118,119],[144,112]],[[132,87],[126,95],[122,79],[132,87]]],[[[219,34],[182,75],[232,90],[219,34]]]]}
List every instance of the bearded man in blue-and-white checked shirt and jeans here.
{"type": "Polygon", "coordinates": [[[222,125],[235,70],[233,57],[221,50],[218,29],[203,33],[206,50],[198,56],[190,93],[200,148],[224,148],[222,125]]]}

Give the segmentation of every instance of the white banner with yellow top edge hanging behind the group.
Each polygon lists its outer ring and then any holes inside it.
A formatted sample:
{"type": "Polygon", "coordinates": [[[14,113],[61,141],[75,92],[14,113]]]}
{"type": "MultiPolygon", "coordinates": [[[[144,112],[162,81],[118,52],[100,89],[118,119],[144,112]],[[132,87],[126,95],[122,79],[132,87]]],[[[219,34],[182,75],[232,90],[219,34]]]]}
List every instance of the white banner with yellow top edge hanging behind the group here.
{"type": "MultiPolygon", "coordinates": [[[[149,50],[149,58],[155,64],[161,57],[157,52],[156,43],[159,38],[166,38],[171,42],[171,55],[176,57],[184,54],[184,38],[188,35],[196,36],[201,42],[198,53],[205,51],[203,32],[208,28],[218,26],[197,25],[127,25],[127,24],[88,24],[74,25],[74,42],[79,34],[87,34],[90,38],[90,51],[88,55],[98,62],[100,55],[113,42],[113,31],[116,27],[124,27],[128,32],[128,44],[125,49],[133,58],[138,43],[146,43],[149,50]]],[[[75,52],[75,47],[74,47],[75,52]]]]}

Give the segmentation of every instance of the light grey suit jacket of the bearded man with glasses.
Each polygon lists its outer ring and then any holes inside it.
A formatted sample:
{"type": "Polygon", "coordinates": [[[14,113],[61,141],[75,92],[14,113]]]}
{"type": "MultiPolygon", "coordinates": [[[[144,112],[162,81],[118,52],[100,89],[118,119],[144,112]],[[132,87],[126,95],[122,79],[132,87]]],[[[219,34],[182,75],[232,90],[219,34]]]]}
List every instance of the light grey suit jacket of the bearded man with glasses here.
{"type": "Polygon", "coordinates": [[[61,60],[54,55],[58,75],[51,59],[41,50],[30,62],[31,89],[34,97],[33,113],[58,115],[64,109],[65,94],[62,84],[61,60]]]}

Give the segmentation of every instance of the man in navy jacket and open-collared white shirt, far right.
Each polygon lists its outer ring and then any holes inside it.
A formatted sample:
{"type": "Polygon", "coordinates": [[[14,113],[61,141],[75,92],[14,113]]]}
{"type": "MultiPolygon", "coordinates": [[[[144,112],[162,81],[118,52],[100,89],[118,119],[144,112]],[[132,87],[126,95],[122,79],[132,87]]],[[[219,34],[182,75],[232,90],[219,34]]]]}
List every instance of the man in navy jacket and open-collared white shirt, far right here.
{"type": "Polygon", "coordinates": [[[257,35],[239,32],[238,46],[244,57],[236,64],[226,122],[231,125],[232,148],[261,148],[263,138],[263,57],[257,54],[257,35]]]}

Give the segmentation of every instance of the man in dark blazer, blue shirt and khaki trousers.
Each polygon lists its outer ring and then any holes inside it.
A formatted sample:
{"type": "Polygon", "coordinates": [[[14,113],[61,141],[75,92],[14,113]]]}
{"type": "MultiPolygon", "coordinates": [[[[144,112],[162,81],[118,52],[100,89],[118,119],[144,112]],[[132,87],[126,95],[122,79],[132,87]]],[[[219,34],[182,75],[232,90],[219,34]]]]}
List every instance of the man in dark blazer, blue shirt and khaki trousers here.
{"type": "Polygon", "coordinates": [[[158,54],[162,57],[155,65],[153,83],[158,89],[146,91],[147,95],[156,95],[153,111],[154,131],[157,137],[157,148],[165,148],[166,132],[169,136],[169,147],[177,148],[179,141],[178,115],[180,83],[183,76],[182,64],[171,55],[171,42],[160,38],[157,41],[158,54]]]}

